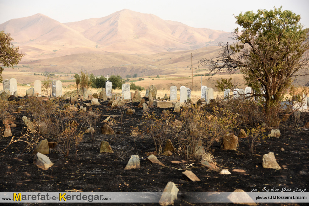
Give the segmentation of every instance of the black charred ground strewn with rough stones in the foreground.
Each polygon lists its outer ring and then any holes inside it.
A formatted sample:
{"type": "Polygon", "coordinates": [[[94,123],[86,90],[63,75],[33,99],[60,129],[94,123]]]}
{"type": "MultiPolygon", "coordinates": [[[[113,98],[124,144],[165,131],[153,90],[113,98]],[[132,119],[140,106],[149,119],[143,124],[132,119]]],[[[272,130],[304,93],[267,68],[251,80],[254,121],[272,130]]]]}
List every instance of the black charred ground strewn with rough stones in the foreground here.
{"type": "MultiPolygon", "coordinates": [[[[87,102],[87,101],[86,101],[87,102]]],[[[88,101],[89,102],[89,101],[88,101]]],[[[309,130],[300,129],[297,132],[281,131],[279,138],[267,138],[257,146],[256,155],[251,156],[247,139],[239,139],[237,151],[222,150],[215,143],[210,150],[217,165],[227,168],[231,175],[220,175],[218,171],[209,170],[197,160],[182,164],[171,161],[184,160],[182,156],[173,153],[172,156],[157,156],[165,167],[146,161],[146,152],[155,151],[151,138],[132,137],[131,126],[140,124],[143,119],[143,108],[137,108],[138,103],[129,103],[135,109],[133,115],[124,114],[122,123],[119,116],[112,117],[117,122],[115,135],[103,135],[100,128],[102,121],[108,115],[120,115],[120,110],[107,108],[108,101],[100,102],[101,118],[96,124],[96,139],[91,142],[91,134],[85,134],[78,146],[77,158],[72,148],[70,154],[64,157],[57,147],[50,149],[47,155],[54,166],[44,171],[33,162],[32,151],[22,154],[25,142],[18,141],[0,152],[0,191],[1,192],[162,192],[167,182],[174,182],[179,188],[178,203],[175,205],[192,205],[182,201],[186,192],[232,192],[243,189],[251,192],[252,188],[259,192],[269,188],[307,188],[309,189],[309,130]],[[100,142],[108,141],[114,153],[100,153],[100,142]],[[284,151],[280,149],[284,148],[284,151]],[[265,169],[262,166],[262,156],[274,152],[281,170],[265,169]],[[131,155],[139,155],[140,169],[124,170],[131,155]],[[189,164],[194,164],[188,167],[189,164]],[[201,180],[189,182],[182,178],[185,169],[191,170],[201,180]],[[233,172],[233,169],[245,172],[233,172]]],[[[162,113],[162,108],[150,108],[151,112],[162,113]]],[[[173,108],[166,110],[172,111],[173,108]]],[[[20,136],[24,123],[21,120],[23,111],[17,115],[12,128],[13,136],[20,136]]],[[[136,126],[135,126],[136,127],[136,126]]],[[[47,138],[48,139],[48,138],[47,138]]],[[[0,150],[9,144],[11,137],[0,138],[0,150]]],[[[48,141],[54,141],[50,138],[48,141]]],[[[103,203],[101,203],[102,205],[103,203]]],[[[232,203],[193,203],[195,205],[233,205],[232,203]]],[[[259,203],[258,205],[307,205],[308,203],[259,203]]],[[[9,203],[3,205],[12,205],[9,203]]],[[[55,205],[55,203],[19,203],[14,205],[55,205]]],[[[59,205],[82,205],[82,203],[59,203],[59,205]]],[[[91,203],[91,205],[97,205],[91,203]]],[[[99,204],[98,204],[99,205],[99,204]]],[[[104,205],[159,205],[158,203],[104,203],[104,205]]]]}

